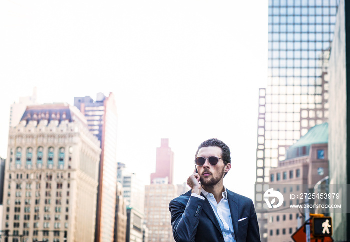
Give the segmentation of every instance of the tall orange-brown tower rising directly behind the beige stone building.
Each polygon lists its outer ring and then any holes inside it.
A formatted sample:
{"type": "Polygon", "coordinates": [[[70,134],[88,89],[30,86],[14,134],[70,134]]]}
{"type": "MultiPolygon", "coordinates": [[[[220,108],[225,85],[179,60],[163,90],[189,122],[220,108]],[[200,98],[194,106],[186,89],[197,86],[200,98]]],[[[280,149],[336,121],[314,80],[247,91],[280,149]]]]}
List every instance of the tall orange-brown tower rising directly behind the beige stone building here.
{"type": "Polygon", "coordinates": [[[96,215],[96,242],[110,242],[114,239],[115,202],[116,202],[116,137],[117,112],[114,94],[108,97],[97,94],[91,97],[75,97],[74,106],[85,115],[89,130],[101,142],[99,163],[98,198],[96,215]]]}

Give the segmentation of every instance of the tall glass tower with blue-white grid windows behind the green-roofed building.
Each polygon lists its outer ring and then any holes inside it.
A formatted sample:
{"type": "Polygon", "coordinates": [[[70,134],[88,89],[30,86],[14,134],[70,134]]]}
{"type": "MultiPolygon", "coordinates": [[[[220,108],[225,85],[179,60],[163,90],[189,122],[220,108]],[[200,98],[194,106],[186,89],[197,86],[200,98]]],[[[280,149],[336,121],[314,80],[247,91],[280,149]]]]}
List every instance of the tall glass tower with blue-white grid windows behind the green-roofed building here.
{"type": "Polygon", "coordinates": [[[327,65],[338,0],[269,0],[268,83],[259,92],[255,206],[267,241],[263,201],[269,170],[287,147],[328,117],[327,65]]]}

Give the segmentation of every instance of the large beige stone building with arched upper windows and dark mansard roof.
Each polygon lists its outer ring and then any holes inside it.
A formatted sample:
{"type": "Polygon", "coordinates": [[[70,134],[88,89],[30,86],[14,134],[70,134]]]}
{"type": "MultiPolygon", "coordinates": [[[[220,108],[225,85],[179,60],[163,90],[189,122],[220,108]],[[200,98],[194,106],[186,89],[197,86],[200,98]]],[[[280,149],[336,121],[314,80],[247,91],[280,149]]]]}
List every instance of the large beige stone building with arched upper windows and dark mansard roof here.
{"type": "Polygon", "coordinates": [[[28,106],[9,131],[2,237],[93,242],[100,152],[76,107],[28,106]]]}

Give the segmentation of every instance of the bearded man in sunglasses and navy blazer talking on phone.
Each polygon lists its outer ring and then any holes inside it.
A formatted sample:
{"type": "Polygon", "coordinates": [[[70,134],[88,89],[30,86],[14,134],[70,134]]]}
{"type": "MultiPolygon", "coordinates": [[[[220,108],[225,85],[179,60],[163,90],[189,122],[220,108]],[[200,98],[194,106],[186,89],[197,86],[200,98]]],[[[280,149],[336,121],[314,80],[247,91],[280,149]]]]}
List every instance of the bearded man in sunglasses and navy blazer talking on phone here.
{"type": "Polygon", "coordinates": [[[169,204],[177,242],[260,241],[251,199],[227,190],[223,177],[231,168],[229,147],[212,138],[195,154],[196,172],[187,179],[187,193],[169,204]]]}

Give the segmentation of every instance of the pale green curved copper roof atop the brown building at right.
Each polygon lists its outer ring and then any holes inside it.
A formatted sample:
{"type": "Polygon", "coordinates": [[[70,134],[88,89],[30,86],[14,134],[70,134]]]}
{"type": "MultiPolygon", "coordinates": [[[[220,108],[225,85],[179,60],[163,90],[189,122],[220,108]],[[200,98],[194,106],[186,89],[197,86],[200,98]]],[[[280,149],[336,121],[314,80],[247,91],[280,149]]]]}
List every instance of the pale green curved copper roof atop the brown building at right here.
{"type": "Polygon", "coordinates": [[[289,147],[289,149],[310,146],[311,144],[328,143],[328,123],[316,125],[302,136],[296,143],[289,147]]]}

